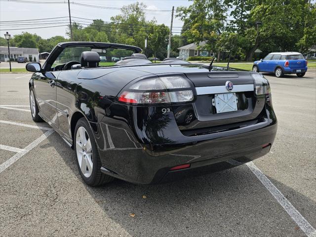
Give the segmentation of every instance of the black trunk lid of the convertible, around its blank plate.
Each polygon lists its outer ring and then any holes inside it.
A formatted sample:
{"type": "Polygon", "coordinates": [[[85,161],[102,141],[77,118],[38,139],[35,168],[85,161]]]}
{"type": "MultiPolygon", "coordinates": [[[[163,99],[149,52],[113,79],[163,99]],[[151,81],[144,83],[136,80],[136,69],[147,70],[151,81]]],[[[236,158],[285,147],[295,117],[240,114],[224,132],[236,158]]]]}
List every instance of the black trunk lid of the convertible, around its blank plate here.
{"type": "Polygon", "coordinates": [[[256,119],[263,110],[265,98],[255,96],[250,72],[193,72],[185,75],[193,82],[197,99],[192,104],[173,105],[173,110],[177,125],[186,136],[244,126],[242,123],[256,119]],[[231,91],[226,88],[228,81],[233,83],[231,91]],[[237,110],[217,111],[215,96],[233,96],[233,93],[237,110]]]}

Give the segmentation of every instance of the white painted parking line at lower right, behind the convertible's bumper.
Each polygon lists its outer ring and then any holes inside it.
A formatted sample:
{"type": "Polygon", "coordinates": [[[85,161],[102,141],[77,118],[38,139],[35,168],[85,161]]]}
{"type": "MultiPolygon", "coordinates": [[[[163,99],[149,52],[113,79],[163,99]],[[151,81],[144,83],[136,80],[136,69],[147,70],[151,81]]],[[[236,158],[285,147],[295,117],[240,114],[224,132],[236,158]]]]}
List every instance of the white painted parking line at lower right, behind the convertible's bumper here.
{"type": "Polygon", "coordinates": [[[276,201],[284,208],[289,216],[296,222],[308,237],[316,237],[315,228],[299,213],[299,211],[286,199],[286,197],[274,186],[253,162],[246,163],[252,173],[257,176],[260,182],[276,198],[276,201]]]}

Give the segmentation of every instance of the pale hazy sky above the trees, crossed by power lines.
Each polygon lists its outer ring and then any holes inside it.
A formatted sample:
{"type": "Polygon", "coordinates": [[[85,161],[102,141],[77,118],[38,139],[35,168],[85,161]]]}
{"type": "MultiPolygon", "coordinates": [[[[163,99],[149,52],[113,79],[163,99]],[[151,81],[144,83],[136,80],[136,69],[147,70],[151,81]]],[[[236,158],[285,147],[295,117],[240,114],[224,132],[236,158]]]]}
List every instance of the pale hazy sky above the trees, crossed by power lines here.
{"type": "MultiPolygon", "coordinates": [[[[34,0],[32,0],[34,1],[34,0]]],[[[65,3],[58,4],[42,4],[42,3],[22,3],[12,2],[8,0],[0,0],[0,22],[2,21],[16,21],[16,20],[28,20],[28,19],[40,19],[50,17],[63,17],[68,16],[68,1],[67,0],[38,0],[41,2],[49,1],[65,1],[65,3]]],[[[84,4],[102,5],[109,7],[121,7],[127,5],[136,0],[71,0],[71,2],[79,2],[84,4]]],[[[171,9],[172,6],[189,6],[192,2],[188,0],[139,0],[147,5],[147,9],[162,9],[170,10],[170,12],[146,12],[147,20],[151,20],[154,17],[158,24],[165,24],[170,26],[171,21],[171,9]]],[[[102,19],[104,21],[110,21],[111,16],[118,15],[119,9],[101,9],[92,8],[79,5],[70,5],[71,15],[76,17],[83,17],[89,19],[102,19]]],[[[65,18],[66,19],[66,18],[65,18]]],[[[73,18],[72,20],[75,20],[73,18]]],[[[69,21],[69,19],[68,19],[69,21]]],[[[41,28],[41,29],[27,29],[27,30],[15,30],[18,28],[31,28],[32,26],[0,26],[0,36],[4,37],[3,34],[6,30],[11,35],[21,34],[23,31],[30,33],[36,33],[40,37],[47,39],[52,36],[61,35],[66,36],[66,26],[54,27],[54,28],[41,28]]],[[[26,24],[26,23],[25,23],[26,24]]],[[[62,25],[62,23],[58,23],[62,25]]],[[[68,23],[64,23],[65,25],[68,23]]],[[[173,26],[182,26],[183,23],[178,19],[173,19],[173,26]]],[[[48,26],[45,25],[45,26],[48,26]]],[[[43,25],[34,25],[33,27],[43,27],[43,25]]],[[[173,31],[175,31],[175,28],[173,31]]],[[[176,31],[180,31],[178,28],[176,31]]]]}

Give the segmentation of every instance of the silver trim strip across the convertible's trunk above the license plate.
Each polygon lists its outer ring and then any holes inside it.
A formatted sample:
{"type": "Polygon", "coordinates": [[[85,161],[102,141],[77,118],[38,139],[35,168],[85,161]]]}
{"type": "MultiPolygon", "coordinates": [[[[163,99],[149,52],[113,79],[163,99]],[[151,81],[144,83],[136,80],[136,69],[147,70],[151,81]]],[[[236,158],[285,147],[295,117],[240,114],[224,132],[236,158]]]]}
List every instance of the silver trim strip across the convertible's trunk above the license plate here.
{"type": "Polygon", "coordinates": [[[215,86],[215,87],[196,87],[197,95],[211,95],[211,94],[222,94],[222,93],[234,93],[234,92],[251,92],[254,91],[253,84],[245,85],[234,85],[232,91],[226,89],[226,86],[215,86]]]}

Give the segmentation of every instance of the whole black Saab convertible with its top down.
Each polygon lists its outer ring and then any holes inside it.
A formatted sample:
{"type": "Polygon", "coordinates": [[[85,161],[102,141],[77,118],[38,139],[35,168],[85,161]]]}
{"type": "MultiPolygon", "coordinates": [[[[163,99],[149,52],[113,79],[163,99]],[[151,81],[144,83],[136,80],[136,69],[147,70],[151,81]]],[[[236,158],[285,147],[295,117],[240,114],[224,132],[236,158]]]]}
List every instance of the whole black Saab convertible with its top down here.
{"type": "Polygon", "coordinates": [[[33,120],[75,149],[86,184],[173,181],[269,152],[277,124],[263,75],[140,52],[67,42],[26,66],[33,120]]]}

